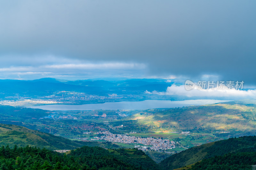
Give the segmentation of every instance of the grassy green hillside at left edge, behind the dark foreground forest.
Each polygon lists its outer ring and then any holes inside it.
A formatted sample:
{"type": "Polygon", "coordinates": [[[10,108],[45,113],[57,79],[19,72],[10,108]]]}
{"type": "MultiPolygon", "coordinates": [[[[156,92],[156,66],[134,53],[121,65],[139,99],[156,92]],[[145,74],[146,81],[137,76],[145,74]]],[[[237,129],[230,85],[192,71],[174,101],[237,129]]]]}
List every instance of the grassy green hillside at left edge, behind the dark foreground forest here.
{"type": "MultiPolygon", "coordinates": [[[[54,136],[49,133],[34,131],[22,126],[12,124],[0,124],[0,145],[14,145],[24,147],[26,145],[57,149],[76,149],[84,145],[92,145],[92,142],[71,141],[69,139],[54,136]]],[[[93,143],[93,145],[97,145],[93,143]]],[[[118,148],[117,145],[111,143],[99,143],[98,146],[104,148],[118,148]]]]}

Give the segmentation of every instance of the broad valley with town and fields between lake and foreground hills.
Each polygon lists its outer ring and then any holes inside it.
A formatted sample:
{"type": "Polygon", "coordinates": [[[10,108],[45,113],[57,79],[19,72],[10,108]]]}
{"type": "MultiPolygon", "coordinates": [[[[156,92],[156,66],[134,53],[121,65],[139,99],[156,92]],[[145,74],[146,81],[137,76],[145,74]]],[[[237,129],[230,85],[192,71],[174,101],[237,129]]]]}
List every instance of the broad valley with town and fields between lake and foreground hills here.
{"type": "MultiPolygon", "coordinates": [[[[149,110],[47,111],[0,105],[0,123],[71,139],[76,143],[73,148],[81,142],[105,148],[136,147],[160,162],[194,146],[255,134],[255,108],[253,100],[149,110]]],[[[11,138],[20,138],[23,133],[10,137],[4,132],[1,143],[11,145],[11,138]]],[[[25,146],[23,143],[20,146],[25,146]]]]}

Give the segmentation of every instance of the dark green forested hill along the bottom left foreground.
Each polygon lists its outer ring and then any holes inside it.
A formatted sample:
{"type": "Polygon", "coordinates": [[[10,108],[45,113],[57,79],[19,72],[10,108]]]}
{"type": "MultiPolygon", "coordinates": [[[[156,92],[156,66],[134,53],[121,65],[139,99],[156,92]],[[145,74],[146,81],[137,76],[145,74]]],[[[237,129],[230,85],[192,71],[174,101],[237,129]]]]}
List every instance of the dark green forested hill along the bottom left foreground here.
{"type": "Polygon", "coordinates": [[[2,146],[0,169],[30,170],[158,170],[159,166],[137,149],[107,150],[83,146],[69,154],[60,154],[45,148],[2,146]]]}

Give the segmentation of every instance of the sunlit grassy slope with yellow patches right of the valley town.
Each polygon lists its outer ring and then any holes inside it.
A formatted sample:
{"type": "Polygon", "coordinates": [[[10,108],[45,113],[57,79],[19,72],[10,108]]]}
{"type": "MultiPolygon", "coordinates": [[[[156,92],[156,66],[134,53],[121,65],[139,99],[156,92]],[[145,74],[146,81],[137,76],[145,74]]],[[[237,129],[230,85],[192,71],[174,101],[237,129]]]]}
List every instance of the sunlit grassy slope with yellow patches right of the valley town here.
{"type": "Polygon", "coordinates": [[[145,110],[126,120],[156,131],[231,131],[252,134],[256,128],[255,101],[234,101],[166,110],[145,110]]]}

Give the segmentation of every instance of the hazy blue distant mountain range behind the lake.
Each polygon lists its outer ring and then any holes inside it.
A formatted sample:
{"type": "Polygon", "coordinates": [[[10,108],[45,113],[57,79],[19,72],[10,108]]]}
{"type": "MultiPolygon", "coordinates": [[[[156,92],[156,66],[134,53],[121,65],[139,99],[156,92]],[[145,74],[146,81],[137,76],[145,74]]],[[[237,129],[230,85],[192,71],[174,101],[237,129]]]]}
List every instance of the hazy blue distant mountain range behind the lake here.
{"type": "Polygon", "coordinates": [[[172,82],[165,79],[130,79],[122,81],[105,80],[62,80],[42,78],[32,81],[0,80],[0,97],[45,96],[56,91],[74,91],[93,95],[140,94],[148,91],[166,91],[172,82]]]}

